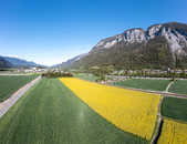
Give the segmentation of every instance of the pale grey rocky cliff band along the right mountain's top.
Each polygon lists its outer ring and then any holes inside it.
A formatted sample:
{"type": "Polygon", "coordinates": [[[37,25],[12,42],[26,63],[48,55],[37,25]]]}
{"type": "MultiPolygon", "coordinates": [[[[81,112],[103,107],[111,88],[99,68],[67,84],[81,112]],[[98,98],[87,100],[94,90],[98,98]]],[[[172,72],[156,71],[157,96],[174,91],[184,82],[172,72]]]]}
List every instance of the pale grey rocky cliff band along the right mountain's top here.
{"type": "Polygon", "coordinates": [[[101,40],[92,51],[97,51],[101,49],[111,49],[116,47],[123,41],[124,44],[134,43],[147,43],[149,40],[157,37],[163,37],[167,40],[172,52],[186,53],[185,48],[187,47],[187,24],[181,23],[165,23],[155,24],[149,27],[146,31],[143,29],[131,29],[126,30],[124,33],[101,40]]]}

